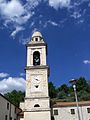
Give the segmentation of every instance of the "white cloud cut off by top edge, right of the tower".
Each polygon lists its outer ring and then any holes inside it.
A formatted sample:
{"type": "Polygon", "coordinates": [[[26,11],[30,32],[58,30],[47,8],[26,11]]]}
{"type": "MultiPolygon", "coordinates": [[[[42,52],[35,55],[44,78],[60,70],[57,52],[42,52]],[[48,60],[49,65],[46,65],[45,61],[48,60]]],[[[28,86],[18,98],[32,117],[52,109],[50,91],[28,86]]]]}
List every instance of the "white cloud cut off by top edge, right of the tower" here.
{"type": "Polygon", "coordinates": [[[55,9],[68,7],[71,0],[49,0],[49,5],[55,9]]]}

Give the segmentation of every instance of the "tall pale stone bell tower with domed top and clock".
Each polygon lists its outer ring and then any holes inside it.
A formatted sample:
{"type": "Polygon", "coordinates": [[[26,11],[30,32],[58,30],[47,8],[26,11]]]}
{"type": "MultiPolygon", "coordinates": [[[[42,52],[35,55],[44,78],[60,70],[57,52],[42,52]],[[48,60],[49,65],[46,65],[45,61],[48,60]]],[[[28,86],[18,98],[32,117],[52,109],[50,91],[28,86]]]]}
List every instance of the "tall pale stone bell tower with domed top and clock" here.
{"type": "Polygon", "coordinates": [[[34,32],[27,44],[24,120],[51,120],[46,49],[41,33],[34,32]]]}

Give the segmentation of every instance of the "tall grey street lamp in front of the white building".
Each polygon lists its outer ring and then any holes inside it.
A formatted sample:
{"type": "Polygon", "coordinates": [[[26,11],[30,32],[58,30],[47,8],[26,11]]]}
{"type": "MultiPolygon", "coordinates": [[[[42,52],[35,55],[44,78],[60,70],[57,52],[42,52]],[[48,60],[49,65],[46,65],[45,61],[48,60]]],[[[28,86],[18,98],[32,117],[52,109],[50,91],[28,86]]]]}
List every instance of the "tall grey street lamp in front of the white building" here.
{"type": "Polygon", "coordinates": [[[76,82],[77,82],[76,79],[72,79],[72,80],[69,81],[69,83],[71,83],[72,86],[73,86],[73,90],[74,90],[74,94],[75,94],[75,100],[76,100],[76,106],[77,106],[77,113],[78,113],[78,120],[81,120],[80,119],[80,113],[79,113],[79,105],[78,105],[77,92],[76,92],[76,82]]]}

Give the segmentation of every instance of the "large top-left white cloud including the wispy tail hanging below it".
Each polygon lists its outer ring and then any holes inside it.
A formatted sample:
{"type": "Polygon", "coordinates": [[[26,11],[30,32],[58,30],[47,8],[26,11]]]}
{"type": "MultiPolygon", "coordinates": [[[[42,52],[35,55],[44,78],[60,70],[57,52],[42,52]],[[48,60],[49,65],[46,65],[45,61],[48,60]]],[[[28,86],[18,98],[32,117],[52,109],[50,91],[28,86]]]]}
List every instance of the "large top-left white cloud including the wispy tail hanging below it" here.
{"type": "Polygon", "coordinates": [[[12,32],[11,36],[23,30],[22,25],[30,19],[32,14],[33,12],[28,11],[20,0],[0,1],[0,15],[1,19],[4,20],[4,25],[10,28],[8,25],[11,23],[12,27],[16,29],[12,32]]]}

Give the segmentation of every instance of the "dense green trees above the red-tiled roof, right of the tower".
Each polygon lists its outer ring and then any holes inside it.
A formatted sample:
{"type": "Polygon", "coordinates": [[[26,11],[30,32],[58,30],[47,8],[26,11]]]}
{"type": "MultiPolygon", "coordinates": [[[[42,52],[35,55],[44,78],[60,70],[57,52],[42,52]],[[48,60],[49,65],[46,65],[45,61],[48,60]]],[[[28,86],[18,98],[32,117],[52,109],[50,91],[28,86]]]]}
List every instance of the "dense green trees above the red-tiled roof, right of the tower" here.
{"type": "MultiPolygon", "coordinates": [[[[51,88],[49,88],[50,91],[54,91],[49,92],[52,99],[59,99],[60,101],[75,101],[72,85],[68,86],[63,84],[56,88],[52,82],[50,82],[50,84],[52,84],[51,88]]],[[[77,79],[76,89],[79,101],[90,100],[90,81],[85,80],[84,77],[80,77],[77,79]]]]}

